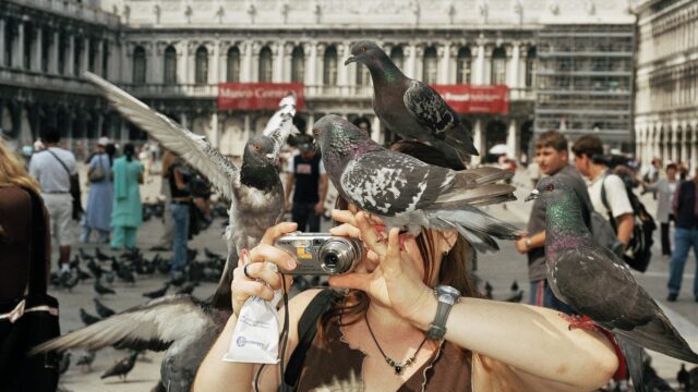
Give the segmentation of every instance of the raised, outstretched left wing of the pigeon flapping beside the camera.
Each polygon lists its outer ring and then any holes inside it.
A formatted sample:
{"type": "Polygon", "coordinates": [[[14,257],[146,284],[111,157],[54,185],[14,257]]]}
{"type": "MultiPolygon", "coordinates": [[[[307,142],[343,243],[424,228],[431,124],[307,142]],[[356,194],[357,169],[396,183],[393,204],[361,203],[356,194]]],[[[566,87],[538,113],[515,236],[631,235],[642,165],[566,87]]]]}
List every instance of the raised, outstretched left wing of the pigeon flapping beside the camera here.
{"type": "Polygon", "coordinates": [[[184,159],[228,200],[233,200],[232,186],[239,183],[239,170],[204,136],[183,128],[104,78],[89,72],[85,72],[84,76],[124,118],[184,159]]]}

